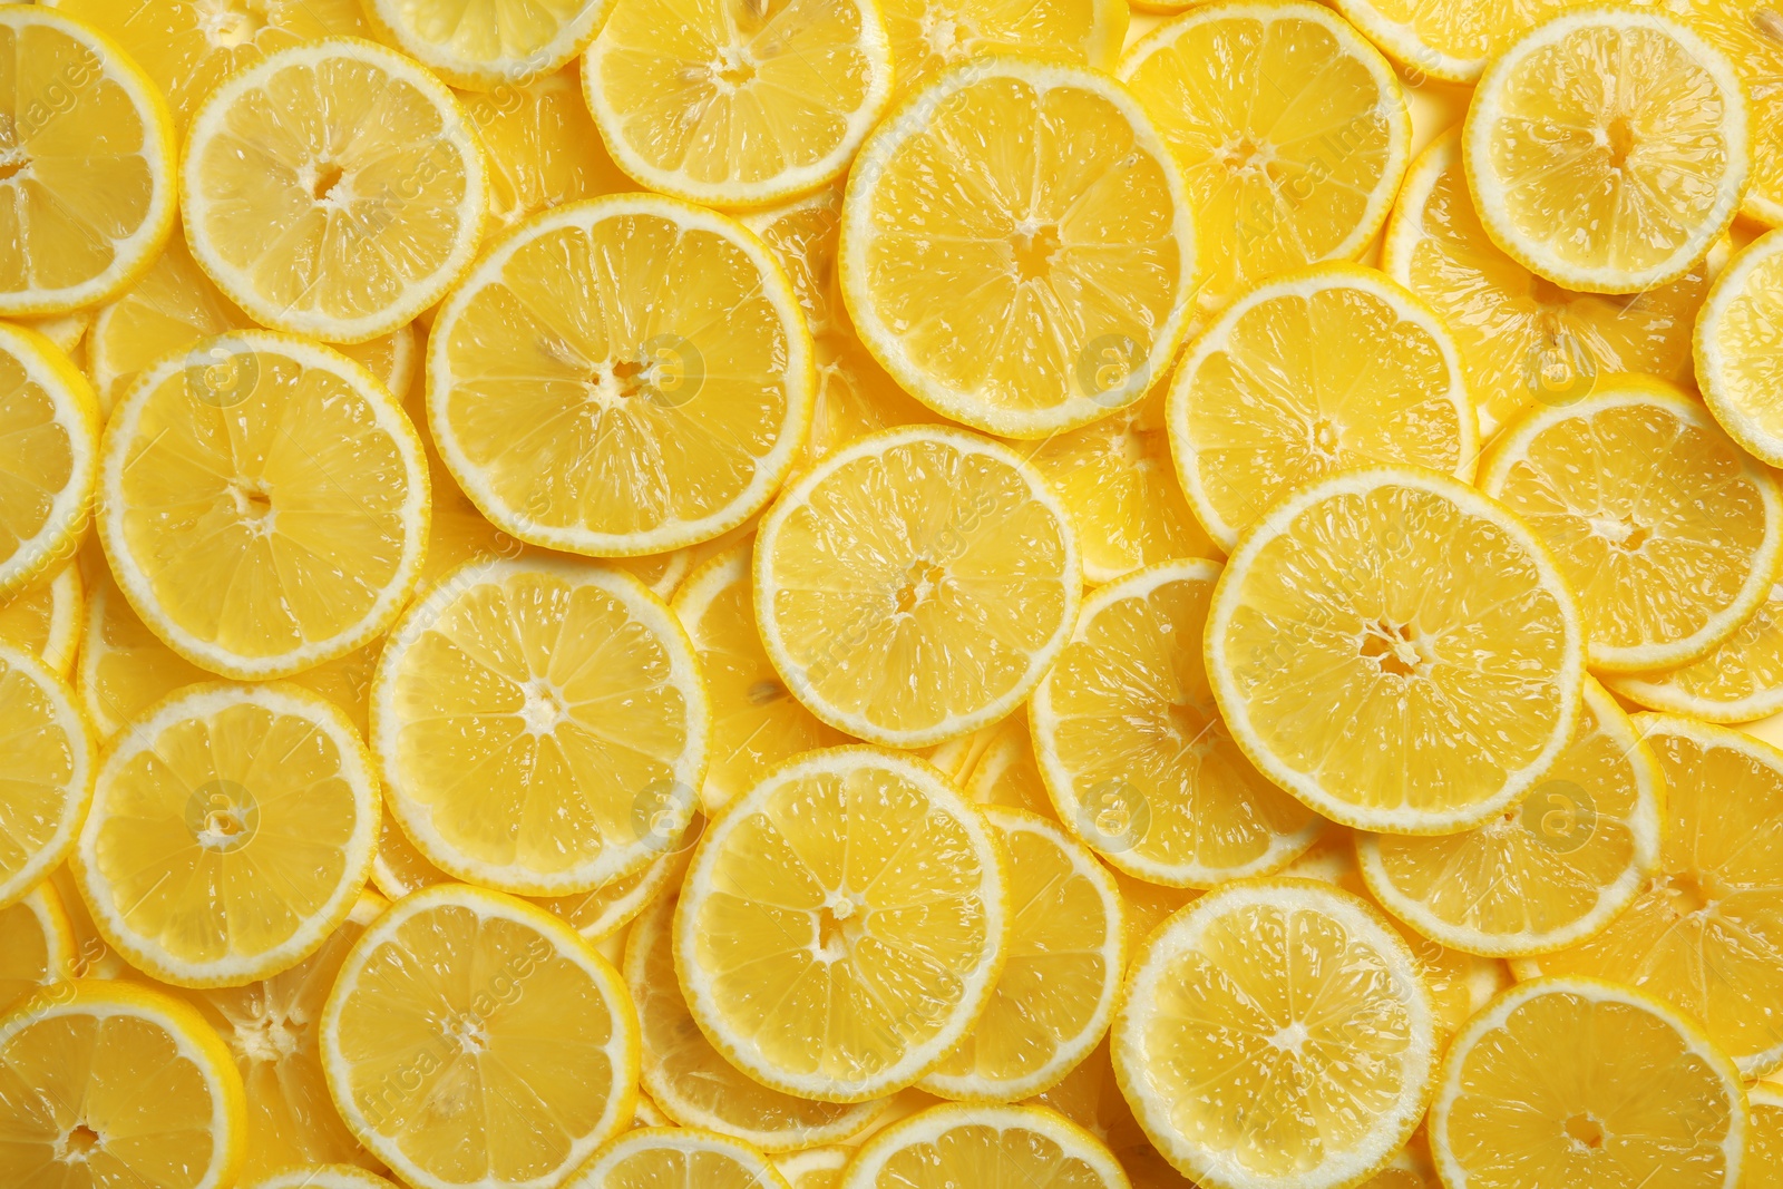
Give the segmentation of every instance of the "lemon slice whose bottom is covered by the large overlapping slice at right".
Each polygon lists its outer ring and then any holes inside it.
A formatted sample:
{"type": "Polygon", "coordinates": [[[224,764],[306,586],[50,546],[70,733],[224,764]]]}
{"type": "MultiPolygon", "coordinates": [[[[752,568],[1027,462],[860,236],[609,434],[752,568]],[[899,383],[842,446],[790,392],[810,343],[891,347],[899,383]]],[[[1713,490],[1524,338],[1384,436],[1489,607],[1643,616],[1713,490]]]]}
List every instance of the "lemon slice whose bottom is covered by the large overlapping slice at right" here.
{"type": "Polygon", "coordinates": [[[1373,269],[1319,264],[1239,296],[1170,385],[1170,446],[1227,553],[1282,496],[1334,471],[1473,478],[1480,439],[1442,319],[1373,269]]]}

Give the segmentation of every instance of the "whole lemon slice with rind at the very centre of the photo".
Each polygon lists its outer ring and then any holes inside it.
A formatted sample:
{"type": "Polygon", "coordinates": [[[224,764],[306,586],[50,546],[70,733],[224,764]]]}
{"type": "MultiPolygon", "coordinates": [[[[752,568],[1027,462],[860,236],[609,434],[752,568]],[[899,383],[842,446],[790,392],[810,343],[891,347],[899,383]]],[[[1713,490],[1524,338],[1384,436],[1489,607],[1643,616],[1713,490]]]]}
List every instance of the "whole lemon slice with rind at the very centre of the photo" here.
{"type": "Polygon", "coordinates": [[[756,535],[756,622],[804,706],[927,747],[1004,718],[1077,619],[1059,497],[1002,446],[886,430],[804,472],[756,535]]]}

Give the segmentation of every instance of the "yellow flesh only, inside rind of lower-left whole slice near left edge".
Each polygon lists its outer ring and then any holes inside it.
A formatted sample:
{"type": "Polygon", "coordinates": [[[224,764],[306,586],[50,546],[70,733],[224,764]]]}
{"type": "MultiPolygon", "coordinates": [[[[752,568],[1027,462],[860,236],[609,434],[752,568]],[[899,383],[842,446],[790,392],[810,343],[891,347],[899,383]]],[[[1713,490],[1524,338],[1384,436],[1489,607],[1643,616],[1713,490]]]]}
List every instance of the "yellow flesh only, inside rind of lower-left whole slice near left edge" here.
{"type": "Polygon", "coordinates": [[[366,802],[344,763],[308,718],[251,702],[171,722],[100,790],[84,890],[103,888],[107,914],[175,961],[287,945],[351,875],[366,802]],[[207,841],[218,804],[235,815],[230,847],[207,841]]]}

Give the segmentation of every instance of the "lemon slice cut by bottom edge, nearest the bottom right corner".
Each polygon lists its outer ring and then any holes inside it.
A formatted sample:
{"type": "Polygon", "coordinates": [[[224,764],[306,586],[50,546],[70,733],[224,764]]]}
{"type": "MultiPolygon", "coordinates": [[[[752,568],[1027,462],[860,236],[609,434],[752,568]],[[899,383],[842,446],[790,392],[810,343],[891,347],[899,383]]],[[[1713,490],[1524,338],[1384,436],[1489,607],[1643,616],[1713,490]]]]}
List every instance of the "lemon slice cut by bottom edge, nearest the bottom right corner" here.
{"type": "Polygon", "coordinates": [[[1542,979],[1475,1016],[1430,1105],[1444,1185],[1733,1189],[1740,1075],[1696,1025],[1628,988],[1542,979]]]}

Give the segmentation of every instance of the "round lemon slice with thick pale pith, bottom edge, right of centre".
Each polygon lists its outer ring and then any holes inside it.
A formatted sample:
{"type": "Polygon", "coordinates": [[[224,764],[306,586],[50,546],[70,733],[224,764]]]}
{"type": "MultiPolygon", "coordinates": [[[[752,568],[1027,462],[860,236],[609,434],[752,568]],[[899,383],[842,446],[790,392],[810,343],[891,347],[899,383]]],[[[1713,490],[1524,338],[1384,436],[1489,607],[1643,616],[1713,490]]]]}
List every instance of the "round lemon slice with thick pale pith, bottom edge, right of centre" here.
{"type": "Polygon", "coordinates": [[[1423,1118],[1437,1057],[1400,934],[1298,879],[1227,884],[1154,932],[1111,1048],[1139,1125],[1207,1189],[1364,1180],[1423,1118]]]}

